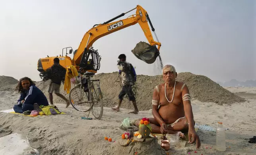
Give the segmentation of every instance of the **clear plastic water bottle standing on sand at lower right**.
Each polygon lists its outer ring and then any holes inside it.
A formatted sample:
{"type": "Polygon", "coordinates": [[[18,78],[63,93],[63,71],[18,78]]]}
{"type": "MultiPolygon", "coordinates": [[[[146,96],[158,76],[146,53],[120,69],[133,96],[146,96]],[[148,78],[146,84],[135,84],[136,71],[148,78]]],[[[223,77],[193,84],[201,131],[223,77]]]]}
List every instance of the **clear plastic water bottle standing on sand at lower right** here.
{"type": "Polygon", "coordinates": [[[222,126],[222,122],[218,122],[218,127],[216,129],[216,149],[219,151],[226,151],[226,141],[225,141],[225,128],[222,126]]]}

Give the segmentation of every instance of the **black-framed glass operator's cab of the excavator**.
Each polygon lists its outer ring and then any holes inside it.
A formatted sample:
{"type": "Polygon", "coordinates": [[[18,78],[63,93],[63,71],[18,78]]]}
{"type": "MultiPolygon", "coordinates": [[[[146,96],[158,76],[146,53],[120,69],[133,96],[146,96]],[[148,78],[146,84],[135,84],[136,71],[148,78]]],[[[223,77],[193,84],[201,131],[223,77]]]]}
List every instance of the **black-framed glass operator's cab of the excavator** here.
{"type": "Polygon", "coordinates": [[[84,59],[81,59],[80,63],[80,72],[92,72],[92,73],[97,73],[101,66],[101,56],[99,56],[98,50],[91,49],[87,50],[85,48],[84,51],[84,59]]]}

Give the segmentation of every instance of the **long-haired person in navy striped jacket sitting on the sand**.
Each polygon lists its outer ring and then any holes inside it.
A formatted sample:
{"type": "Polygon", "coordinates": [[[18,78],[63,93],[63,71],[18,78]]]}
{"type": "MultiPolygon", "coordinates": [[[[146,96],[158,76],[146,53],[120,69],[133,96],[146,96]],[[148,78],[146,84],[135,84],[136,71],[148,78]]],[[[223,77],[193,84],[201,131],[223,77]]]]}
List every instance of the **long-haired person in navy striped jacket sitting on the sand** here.
{"type": "Polygon", "coordinates": [[[35,103],[39,106],[49,105],[44,93],[35,86],[35,83],[29,77],[23,77],[19,80],[16,91],[20,93],[17,104],[14,105],[14,111],[17,113],[34,110],[35,103]]]}

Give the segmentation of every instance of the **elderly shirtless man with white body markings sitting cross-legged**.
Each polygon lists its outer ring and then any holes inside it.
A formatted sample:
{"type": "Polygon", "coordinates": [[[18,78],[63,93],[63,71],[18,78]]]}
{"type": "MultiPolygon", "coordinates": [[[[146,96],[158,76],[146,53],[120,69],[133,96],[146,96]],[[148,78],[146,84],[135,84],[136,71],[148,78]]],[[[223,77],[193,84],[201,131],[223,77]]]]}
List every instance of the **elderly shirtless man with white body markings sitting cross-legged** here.
{"type": "MultiPolygon", "coordinates": [[[[191,97],[186,84],[175,80],[175,67],[163,67],[163,79],[153,92],[153,118],[149,118],[153,133],[176,134],[188,132],[189,143],[196,141],[196,148],[200,147],[200,139],[194,129],[194,116],[191,107],[191,97]],[[191,141],[192,138],[192,141],[191,141]]],[[[140,119],[134,125],[139,127],[140,119]]]]}

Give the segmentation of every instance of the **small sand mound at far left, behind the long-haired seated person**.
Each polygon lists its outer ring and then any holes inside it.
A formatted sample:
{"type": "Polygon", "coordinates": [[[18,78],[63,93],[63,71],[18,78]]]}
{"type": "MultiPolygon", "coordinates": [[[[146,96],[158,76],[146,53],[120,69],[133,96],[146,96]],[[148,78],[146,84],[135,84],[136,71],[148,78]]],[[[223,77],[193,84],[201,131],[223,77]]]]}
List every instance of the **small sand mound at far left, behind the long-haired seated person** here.
{"type": "Polygon", "coordinates": [[[0,76],[0,81],[0,89],[2,91],[14,91],[19,82],[17,79],[10,76],[0,76]]]}

